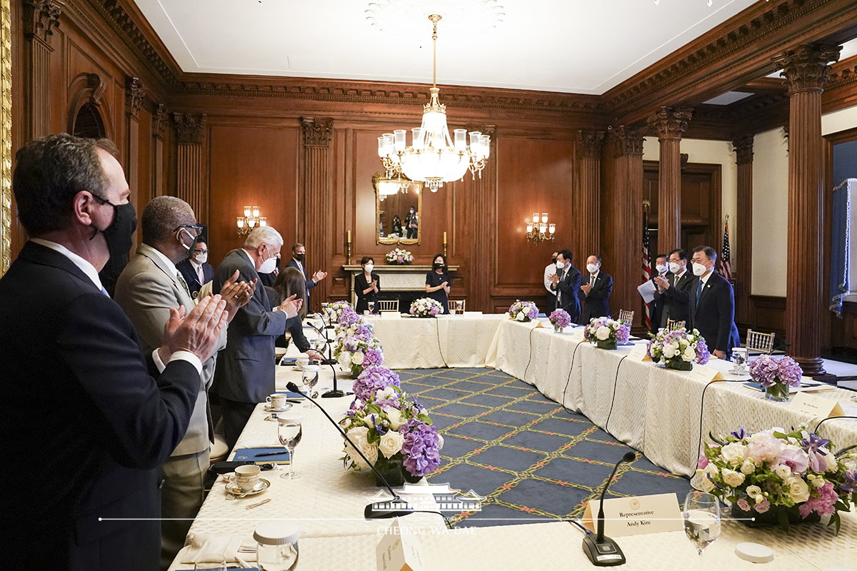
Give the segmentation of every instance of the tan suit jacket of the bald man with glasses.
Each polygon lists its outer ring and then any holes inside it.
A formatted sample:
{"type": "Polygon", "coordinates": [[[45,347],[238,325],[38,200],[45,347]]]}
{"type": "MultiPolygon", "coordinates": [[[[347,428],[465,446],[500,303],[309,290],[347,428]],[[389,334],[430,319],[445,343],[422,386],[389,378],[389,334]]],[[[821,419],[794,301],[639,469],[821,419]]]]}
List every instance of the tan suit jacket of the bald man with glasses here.
{"type": "MultiPolygon", "coordinates": [[[[137,253],[119,276],[115,299],[134,324],[144,355],[151,354],[164,342],[164,324],[171,308],[184,306],[185,314],[194,308],[194,300],[179,283],[176,271],[146,244],[137,247],[137,253]]],[[[199,396],[188,432],[173,452],[174,456],[196,454],[210,446],[207,390],[214,378],[217,352],[226,347],[226,331],[224,328],[218,347],[202,363],[199,396]]]]}

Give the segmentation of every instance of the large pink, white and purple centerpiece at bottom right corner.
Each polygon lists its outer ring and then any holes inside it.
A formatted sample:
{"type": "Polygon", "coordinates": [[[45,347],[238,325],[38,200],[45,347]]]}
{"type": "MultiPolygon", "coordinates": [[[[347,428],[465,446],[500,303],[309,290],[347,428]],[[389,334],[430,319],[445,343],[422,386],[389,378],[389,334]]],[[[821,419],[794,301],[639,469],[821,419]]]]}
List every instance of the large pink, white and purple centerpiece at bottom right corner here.
{"type": "Polygon", "coordinates": [[[830,440],[806,431],[773,428],[751,434],[730,433],[716,445],[705,444],[692,485],[726,498],[733,514],[748,526],[818,520],[839,532],[842,510],[857,503],[857,452],[836,453],[830,440]],[[813,515],[814,514],[814,515],[813,515]]]}

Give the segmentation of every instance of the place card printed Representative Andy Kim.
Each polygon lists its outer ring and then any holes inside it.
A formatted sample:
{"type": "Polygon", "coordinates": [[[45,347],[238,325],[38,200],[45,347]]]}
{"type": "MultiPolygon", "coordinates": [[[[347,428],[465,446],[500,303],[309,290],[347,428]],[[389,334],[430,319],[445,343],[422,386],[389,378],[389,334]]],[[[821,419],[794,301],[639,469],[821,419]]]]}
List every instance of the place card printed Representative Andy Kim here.
{"type": "MultiPolygon", "coordinates": [[[[584,527],[597,528],[598,500],[586,503],[584,527]]],[[[683,529],[675,494],[613,497],[604,500],[604,535],[611,538],[646,533],[680,532],[683,529]]]]}

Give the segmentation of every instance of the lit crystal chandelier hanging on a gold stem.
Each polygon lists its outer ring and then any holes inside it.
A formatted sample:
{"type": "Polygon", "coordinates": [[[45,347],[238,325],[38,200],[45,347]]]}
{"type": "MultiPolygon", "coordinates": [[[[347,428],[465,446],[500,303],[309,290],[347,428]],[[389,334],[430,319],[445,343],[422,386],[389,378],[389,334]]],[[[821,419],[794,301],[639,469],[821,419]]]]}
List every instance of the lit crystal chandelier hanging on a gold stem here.
{"type": "Polygon", "coordinates": [[[454,140],[446,128],[446,105],[438,101],[437,86],[437,23],[440,15],[430,15],[432,42],[434,43],[434,67],[432,86],[428,90],[428,104],[423,106],[423,124],[412,128],[412,144],[405,146],[405,129],[396,129],[378,137],[378,156],[387,170],[387,178],[404,174],[411,181],[423,182],[431,192],[444,182],[458,181],[470,170],[482,176],[482,169],[491,147],[491,138],[479,131],[471,131],[468,145],[467,129],[453,129],[454,140]]]}

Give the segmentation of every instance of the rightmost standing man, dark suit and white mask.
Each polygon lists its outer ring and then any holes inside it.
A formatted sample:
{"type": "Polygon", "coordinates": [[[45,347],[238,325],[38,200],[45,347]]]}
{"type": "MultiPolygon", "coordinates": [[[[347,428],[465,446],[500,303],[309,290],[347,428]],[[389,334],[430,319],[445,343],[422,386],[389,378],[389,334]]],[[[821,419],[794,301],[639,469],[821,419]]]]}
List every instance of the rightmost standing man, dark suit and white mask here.
{"type": "Polygon", "coordinates": [[[732,284],[714,271],[717,253],[714,248],[693,248],[691,264],[696,276],[689,288],[691,329],[699,330],[711,354],[727,359],[739,344],[735,326],[735,294],[732,284]]]}

